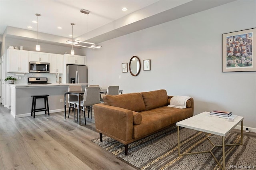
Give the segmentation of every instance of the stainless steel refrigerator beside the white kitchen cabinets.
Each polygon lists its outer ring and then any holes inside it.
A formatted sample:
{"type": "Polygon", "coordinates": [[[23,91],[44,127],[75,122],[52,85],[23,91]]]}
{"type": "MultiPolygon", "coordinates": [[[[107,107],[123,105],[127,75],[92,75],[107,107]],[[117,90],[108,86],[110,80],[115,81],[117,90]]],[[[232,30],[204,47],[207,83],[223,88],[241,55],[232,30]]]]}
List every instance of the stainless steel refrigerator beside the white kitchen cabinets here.
{"type": "Polygon", "coordinates": [[[87,83],[86,65],[67,65],[67,83],[87,83]]]}

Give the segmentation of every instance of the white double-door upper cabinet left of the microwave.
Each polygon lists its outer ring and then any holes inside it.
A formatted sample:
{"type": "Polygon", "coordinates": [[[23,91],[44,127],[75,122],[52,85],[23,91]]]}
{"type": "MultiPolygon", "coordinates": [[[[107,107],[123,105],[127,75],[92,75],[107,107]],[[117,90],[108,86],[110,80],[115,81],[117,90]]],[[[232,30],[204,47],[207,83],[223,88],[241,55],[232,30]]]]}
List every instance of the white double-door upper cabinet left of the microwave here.
{"type": "Polygon", "coordinates": [[[29,73],[29,51],[7,49],[7,72],[29,73]]]}

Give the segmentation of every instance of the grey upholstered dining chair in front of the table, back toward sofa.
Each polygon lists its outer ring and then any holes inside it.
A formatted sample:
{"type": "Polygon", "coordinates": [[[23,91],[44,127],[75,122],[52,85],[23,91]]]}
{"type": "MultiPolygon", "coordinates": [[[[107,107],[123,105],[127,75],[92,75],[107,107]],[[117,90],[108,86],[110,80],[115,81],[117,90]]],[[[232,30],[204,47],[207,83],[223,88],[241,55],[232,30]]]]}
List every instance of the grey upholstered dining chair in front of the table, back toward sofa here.
{"type": "MultiPolygon", "coordinates": [[[[84,91],[84,99],[79,104],[76,103],[77,108],[80,108],[82,111],[85,111],[85,108],[87,108],[88,111],[88,118],[91,112],[91,119],[92,119],[92,105],[100,103],[100,88],[98,86],[94,87],[86,87],[84,91]]],[[[84,112],[84,122],[86,125],[86,119],[85,119],[85,112],[84,112]]]]}

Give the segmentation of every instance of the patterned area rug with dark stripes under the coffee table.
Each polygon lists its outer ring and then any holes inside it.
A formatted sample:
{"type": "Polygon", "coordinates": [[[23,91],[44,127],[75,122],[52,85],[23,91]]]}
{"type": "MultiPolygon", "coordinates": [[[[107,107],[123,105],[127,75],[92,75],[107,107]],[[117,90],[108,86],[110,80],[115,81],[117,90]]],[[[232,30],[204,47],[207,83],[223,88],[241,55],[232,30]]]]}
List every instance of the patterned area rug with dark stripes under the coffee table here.
{"type": "MultiPolygon", "coordinates": [[[[178,156],[177,127],[170,127],[161,132],[128,144],[128,155],[124,155],[124,145],[108,136],[103,135],[92,141],[102,148],[115,154],[124,161],[141,170],[219,170],[220,167],[210,153],[178,156]]],[[[208,134],[215,145],[222,144],[222,137],[208,134]]],[[[225,144],[239,143],[240,134],[230,132],[225,137],[225,144]]],[[[255,169],[256,168],[256,138],[244,136],[243,145],[226,146],[226,169],[255,169]]],[[[212,144],[204,132],[188,128],[180,128],[181,153],[210,150],[212,144]]],[[[212,152],[222,164],[222,147],[215,147],[212,152]]]]}

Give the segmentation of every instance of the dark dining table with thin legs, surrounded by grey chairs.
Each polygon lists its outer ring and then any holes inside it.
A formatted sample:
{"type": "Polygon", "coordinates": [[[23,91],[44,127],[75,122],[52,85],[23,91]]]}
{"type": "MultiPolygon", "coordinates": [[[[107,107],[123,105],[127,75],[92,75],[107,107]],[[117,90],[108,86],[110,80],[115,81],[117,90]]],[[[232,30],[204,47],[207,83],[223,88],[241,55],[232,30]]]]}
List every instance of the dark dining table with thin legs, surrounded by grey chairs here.
{"type": "MultiPolygon", "coordinates": [[[[107,89],[100,89],[100,94],[106,94],[107,89]]],[[[119,93],[123,94],[122,90],[119,90],[119,93]]],[[[66,95],[75,95],[78,96],[78,104],[81,105],[81,95],[84,94],[84,90],[81,91],[65,91],[64,93],[64,120],[66,120],[66,103],[67,103],[67,97],[66,95]]],[[[80,109],[78,109],[78,126],[81,125],[81,118],[80,118],[80,109]]]]}

